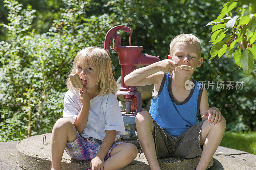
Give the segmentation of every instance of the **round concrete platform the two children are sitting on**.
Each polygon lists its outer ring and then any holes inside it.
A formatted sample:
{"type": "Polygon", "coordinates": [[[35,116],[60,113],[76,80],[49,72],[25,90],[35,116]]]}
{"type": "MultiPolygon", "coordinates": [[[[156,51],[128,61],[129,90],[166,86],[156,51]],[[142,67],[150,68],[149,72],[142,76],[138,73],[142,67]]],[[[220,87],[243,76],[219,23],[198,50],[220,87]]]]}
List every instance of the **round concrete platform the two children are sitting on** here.
{"type": "MultiPolygon", "coordinates": [[[[44,135],[36,135],[31,136],[30,138],[21,140],[16,148],[17,148],[17,163],[23,169],[35,170],[35,169],[51,169],[51,133],[47,133],[44,135]],[[46,136],[46,142],[43,138],[46,136]]],[[[127,141],[125,141],[127,142],[127,141]]],[[[131,141],[130,141],[131,142],[131,141]]],[[[134,143],[133,141],[132,143],[134,143]]],[[[138,143],[137,147],[139,146],[138,143]]],[[[141,153],[139,157],[140,148],[138,149],[137,157],[132,161],[131,164],[125,166],[123,169],[150,169],[148,165],[148,161],[145,158],[145,155],[141,153]]],[[[196,167],[200,159],[200,156],[191,159],[185,158],[161,158],[158,160],[161,169],[193,169],[196,167]]],[[[208,168],[213,165],[213,158],[210,161],[208,168]]],[[[90,161],[84,160],[75,160],[68,156],[66,151],[64,151],[62,157],[61,168],[72,169],[72,170],[80,170],[80,169],[89,169],[90,161]]],[[[1,169],[1,168],[0,168],[1,169]]]]}

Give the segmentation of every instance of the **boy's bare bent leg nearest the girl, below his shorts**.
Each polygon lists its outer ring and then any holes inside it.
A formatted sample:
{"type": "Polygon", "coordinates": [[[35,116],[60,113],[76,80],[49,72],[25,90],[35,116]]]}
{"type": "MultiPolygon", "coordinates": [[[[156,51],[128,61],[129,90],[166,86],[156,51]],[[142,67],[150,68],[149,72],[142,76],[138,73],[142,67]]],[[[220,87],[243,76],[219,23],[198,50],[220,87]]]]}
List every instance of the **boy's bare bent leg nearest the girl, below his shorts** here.
{"type": "Polygon", "coordinates": [[[147,111],[139,112],[136,115],[135,122],[140,146],[148,160],[150,168],[152,170],[160,169],[156,158],[155,142],[153,138],[155,131],[154,123],[150,113],[147,111]]]}

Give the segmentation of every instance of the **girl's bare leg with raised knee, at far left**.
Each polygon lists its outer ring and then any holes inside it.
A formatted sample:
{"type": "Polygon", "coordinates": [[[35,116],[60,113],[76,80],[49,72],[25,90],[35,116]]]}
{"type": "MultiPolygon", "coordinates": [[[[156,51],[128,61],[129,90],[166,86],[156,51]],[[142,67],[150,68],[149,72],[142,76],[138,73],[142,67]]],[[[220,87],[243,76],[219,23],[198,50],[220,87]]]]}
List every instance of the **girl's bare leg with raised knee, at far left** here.
{"type": "Polygon", "coordinates": [[[70,120],[60,118],[56,121],[52,129],[51,139],[52,170],[60,170],[66,144],[75,141],[76,138],[76,128],[70,120]]]}

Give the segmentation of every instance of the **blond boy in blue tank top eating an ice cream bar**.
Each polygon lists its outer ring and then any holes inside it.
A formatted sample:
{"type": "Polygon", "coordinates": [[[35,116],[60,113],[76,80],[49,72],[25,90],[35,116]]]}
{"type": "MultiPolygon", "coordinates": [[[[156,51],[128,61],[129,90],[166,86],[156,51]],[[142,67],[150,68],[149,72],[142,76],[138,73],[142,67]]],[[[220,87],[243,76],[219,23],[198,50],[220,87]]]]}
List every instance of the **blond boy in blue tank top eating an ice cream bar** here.
{"type": "Polygon", "coordinates": [[[127,86],[155,85],[149,112],[139,112],[135,118],[135,134],[151,169],[160,169],[158,158],[193,158],[200,154],[195,169],[206,169],[220,144],[226,121],[219,109],[209,107],[204,86],[191,78],[202,62],[199,39],[181,34],[172,40],[168,59],[124,77],[127,86]],[[181,65],[192,69],[184,70],[178,67],[181,65]],[[187,90],[187,82],[193,88],[187,90]],[[199,110],[201,122],[197,119],[199,110]]]}

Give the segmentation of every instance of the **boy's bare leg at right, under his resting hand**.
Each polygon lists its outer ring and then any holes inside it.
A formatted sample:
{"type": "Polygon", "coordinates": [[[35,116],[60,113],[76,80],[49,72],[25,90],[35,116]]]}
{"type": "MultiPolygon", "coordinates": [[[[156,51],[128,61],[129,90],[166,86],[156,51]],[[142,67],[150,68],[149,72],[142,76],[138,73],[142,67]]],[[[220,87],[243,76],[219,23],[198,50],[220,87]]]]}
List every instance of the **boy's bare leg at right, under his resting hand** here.
{"type": "Polygon", "coordinates": [[[221,116],[220,122],[215,125],[210,124],[207,120],[204,121],[200,135],[200,145],[204,145],[204,149],[196,167],[197,170],[206,169],[213,154],[220,145],[225,128],[226,120],[223,116],[221,116]]]}

